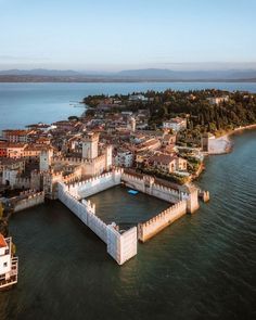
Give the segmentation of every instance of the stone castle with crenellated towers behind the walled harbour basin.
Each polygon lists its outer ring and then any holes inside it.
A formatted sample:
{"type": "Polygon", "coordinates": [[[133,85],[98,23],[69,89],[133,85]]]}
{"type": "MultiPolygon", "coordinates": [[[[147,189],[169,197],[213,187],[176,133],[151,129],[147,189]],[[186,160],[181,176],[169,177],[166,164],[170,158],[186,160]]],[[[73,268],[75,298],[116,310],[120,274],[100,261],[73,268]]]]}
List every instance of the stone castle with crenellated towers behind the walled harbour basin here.
{"type": "Polygon", "coordinates": [[[42,190],[47,197],[56,199],[56,182],[80,180],[110,170],[112,145],[100,149],[99,133],[84,133],[81,145],[81,154],[74,157],[54,153],[52,146],[46,145],[40,152],[38,169],[24,177],[24,168],[7,165],[2,172],[2,183],[17,189],[42,190]]]}

